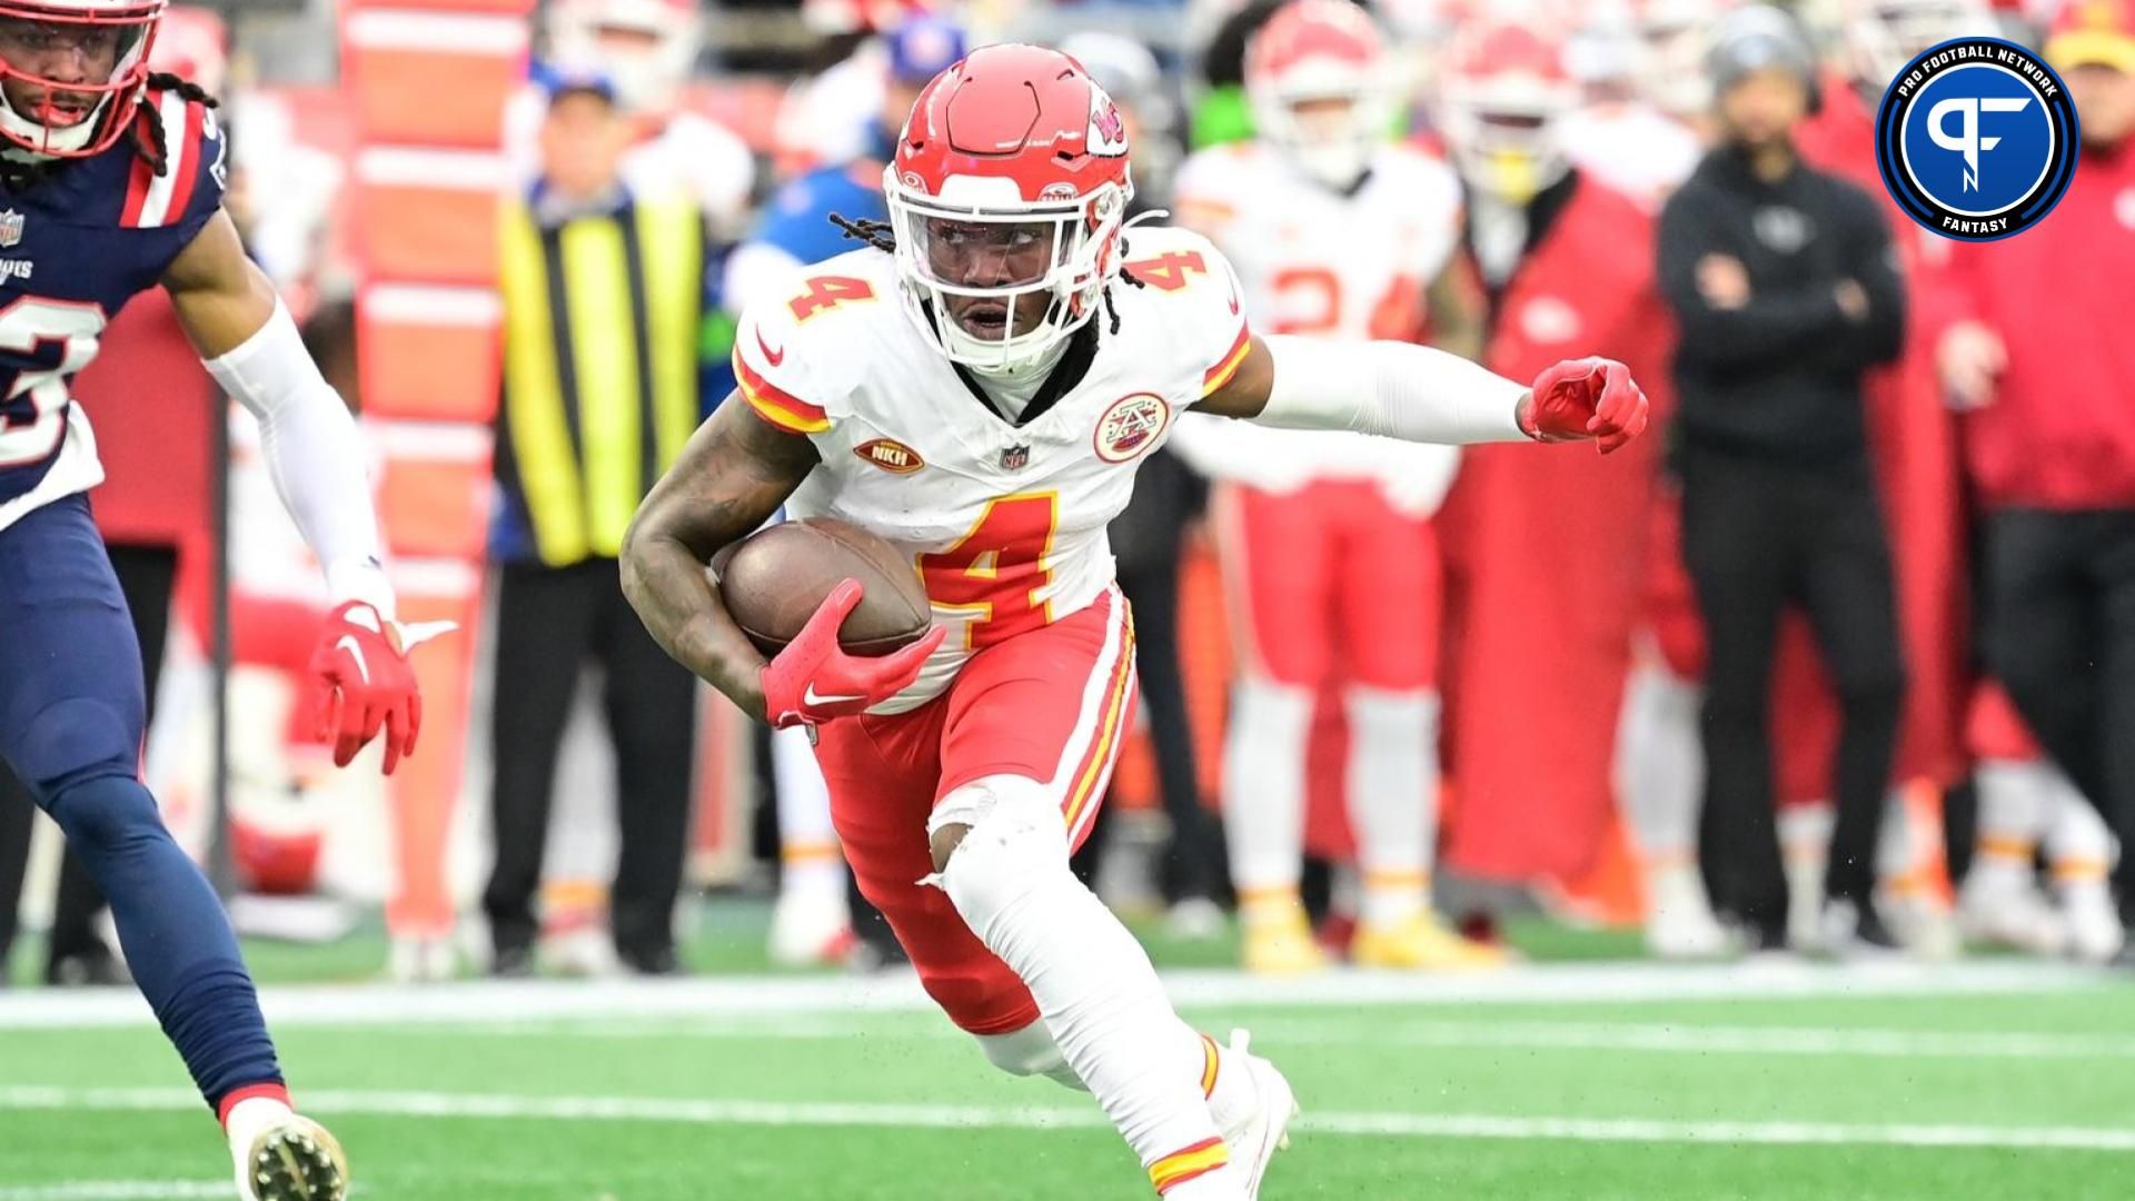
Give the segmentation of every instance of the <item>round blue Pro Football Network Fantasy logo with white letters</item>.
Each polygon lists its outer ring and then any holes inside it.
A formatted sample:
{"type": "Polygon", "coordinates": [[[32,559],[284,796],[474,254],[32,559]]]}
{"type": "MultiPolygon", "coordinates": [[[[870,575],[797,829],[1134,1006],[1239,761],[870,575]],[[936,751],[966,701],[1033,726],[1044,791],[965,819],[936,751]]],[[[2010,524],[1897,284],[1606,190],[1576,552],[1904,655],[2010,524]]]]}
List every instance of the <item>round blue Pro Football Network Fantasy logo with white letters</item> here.
{"type": "Polygon", "coordinates": [[[2003,38],[1954,38],[1892,79],[1875,122],[1883,186],[1913,220],[1994,241],[2045,220],[2075,175],[2075,103],[2003,38]]]}

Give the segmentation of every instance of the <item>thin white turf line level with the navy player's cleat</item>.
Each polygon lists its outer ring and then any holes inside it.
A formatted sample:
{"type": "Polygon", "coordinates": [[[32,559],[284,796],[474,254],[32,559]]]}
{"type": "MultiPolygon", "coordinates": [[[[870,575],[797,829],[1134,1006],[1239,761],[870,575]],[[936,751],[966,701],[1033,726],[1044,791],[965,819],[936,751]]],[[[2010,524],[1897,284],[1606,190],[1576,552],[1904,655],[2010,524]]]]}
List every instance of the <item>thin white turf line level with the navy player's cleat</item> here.
{"type": "MultiPolygon", "coordinates": [[[[694,1126],[886,1126],[954,1130],[1102,1128],[1089,1109],[835,1105],[638,1096],[305,1092],[305,1109],[389,1118],[677,1122],[694,1126]]],[[[0,1109],[192,1109],[177,1088],[0,1086],[0,1109]]],[[[2135,1152],[2135,1128],[1849,1122],[1678,1122],[1655,1118],[1507,1118],[1486,1113],[1307,1113],[1300,1133],[1394,1139],[1561,1139],[1582,1143],[1766,1143],[2135,1152]]],[[[4,1201],[4,1195],[0,1195],[4,1201]]]]}

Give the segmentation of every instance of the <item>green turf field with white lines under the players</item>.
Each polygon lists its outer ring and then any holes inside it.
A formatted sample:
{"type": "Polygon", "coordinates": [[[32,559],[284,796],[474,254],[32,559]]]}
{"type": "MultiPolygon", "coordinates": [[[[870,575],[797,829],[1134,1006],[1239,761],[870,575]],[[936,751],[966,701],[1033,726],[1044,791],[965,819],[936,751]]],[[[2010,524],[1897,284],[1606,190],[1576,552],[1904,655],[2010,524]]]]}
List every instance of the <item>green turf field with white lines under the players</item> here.
{"type": "MultiPolygon", "coordinates": [[[[263,955],[265,974],[346,974],[303,955],[263,955]]],[[[2118,977],[1998,960],[1174,981],[1204,1028],[1251,1026],[1307,1107],[1268,1201],[2135,1197],[2118,977]]],[[[1149,1195],[1087,1096],[993,1073],[903,977],[278,985],[269,1013],[299,1101],[376,1201],[1149,1195]]],[[[0,1201],[226,1197],[224,1173],[139,1002],[0,996],[0,1201]]]]}

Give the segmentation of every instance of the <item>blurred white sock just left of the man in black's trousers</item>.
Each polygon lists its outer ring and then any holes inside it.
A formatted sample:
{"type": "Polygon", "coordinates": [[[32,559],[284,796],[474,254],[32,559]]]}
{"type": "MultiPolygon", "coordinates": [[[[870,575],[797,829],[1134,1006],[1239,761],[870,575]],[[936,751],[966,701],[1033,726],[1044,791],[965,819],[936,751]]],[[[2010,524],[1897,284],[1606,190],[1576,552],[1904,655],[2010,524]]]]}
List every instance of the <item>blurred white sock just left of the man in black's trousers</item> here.
{"type": "Polygon", "coordinates": [[[1661,872],[1697,870],[1697,814],[1704,804],[1706,752],[1697,735],[1704,688],[1657,665],[1631,671],[1623,703],[1618,793],[1625,821],[1655,893],[1661,872]]]}

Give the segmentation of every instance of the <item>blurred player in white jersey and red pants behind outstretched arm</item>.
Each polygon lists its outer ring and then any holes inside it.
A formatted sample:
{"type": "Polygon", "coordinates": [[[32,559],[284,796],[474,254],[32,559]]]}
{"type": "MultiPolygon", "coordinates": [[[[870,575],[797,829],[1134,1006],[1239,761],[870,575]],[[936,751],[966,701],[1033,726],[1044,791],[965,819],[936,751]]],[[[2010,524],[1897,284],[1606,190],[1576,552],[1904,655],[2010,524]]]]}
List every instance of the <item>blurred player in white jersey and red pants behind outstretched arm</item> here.
{"type": "MultiPolygon", "coordinates": [[[[1191,156],[1179,222],[1208,235],[1272,333],[1420,340],[1424,288],[1460,237],[1460,184],[1392,145],[1381,34],[1347,0],[1292,0],[1245,60],[1258,139],[1191,156]]],[[[1430,910],[1439,789],[1439,551],[1430,513],[1458,453],[1358,434],[1187,417],[1181,453],[1215,479],[1240,643],[1223,831],[1245,966],[1324,964],[1298,900],[1304,750],[1322,684],[1349,722],[1362,870],[1351,955],[1379,968],[1484,966],[1430,910]]]]}

